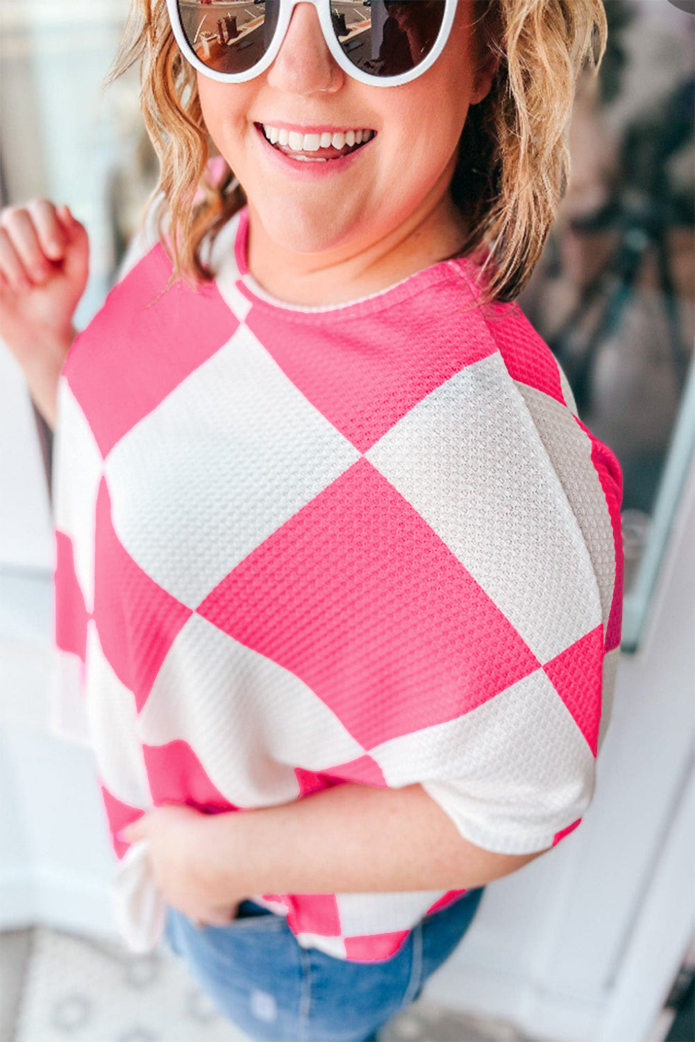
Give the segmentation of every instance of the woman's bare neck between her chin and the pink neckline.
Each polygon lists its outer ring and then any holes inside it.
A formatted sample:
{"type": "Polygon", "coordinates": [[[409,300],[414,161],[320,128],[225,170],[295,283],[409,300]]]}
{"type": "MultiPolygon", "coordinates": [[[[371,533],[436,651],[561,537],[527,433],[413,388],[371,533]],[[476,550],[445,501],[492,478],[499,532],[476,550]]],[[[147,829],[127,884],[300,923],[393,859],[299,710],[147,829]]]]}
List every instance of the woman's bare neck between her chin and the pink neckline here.
{"type": "Polygon", "coordinates": [[[376,242],[354,241],[320,253],[298,253],[276,243],[249,201],[249,272],[273,297],[305,306],[345,303],[386,290],[461,248],[466,227],[448,185],[447,178],[444,191],[430,193],[376,242]]]}

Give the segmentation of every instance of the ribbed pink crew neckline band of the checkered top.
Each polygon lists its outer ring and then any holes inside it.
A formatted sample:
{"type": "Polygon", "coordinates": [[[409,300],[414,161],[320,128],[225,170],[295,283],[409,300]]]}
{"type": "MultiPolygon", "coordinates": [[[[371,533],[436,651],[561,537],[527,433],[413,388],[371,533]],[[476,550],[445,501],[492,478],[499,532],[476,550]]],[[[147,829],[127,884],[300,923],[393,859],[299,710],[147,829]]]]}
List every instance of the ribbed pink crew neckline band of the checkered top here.
{"type": "Polygon", "coordinates": [[[248,267],[248,240],[249,240],[249,213],[248,204],[245,204],[232,218],[237,220],[237,230],[234,232],[234,260],[239,276],[237,286],[241,293],[253,304],[280,311],[284,318],[309,319],[321,321],[332,317],[340,317],[341,320],[347,318],[358,318],[363,315],[373,315],[375,312],[386,311],[401,301],[420,293],[431,286],[450,280],[462,281],[470,292],[470,281],[464,274],[464,258],[452,258],[448,260],[438,260],[436,264],[420,271],[407,275],[399,282],[389,286],[383,290],[377,290],[366,297],[358,297],[355,300],[347,300],[341,304],[290,304],[284,300],[272,296],[259,286],[249,271],[248,267]]]}

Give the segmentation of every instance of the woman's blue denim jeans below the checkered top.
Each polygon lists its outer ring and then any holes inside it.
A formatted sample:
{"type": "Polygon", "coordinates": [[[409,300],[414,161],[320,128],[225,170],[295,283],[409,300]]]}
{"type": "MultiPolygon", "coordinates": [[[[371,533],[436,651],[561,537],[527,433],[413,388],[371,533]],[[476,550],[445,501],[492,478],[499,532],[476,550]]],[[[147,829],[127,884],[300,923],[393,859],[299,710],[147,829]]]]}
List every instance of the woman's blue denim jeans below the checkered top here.
{"type": "Polygon", "coordinates": [[[355,963],[302,948],[284,916],[244,900],[224,926],[167,907],[165,939],[219,1012],[254,1042],[377,1042],[473,920],[485,887],[425,916],[390,959],[355,963]]]}

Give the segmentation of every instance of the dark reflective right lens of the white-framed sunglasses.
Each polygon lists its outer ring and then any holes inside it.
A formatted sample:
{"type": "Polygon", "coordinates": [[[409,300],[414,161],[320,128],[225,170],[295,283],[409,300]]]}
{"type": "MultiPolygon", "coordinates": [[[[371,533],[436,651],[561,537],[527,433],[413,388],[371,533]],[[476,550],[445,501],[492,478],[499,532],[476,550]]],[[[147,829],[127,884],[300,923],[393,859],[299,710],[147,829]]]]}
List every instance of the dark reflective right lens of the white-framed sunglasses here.
{"type": "Polygon", "coordinates": [[[444,21],[446,0],[330,0],[346,56],[373,76],[398,76],[423,61],[444,21]]]}

